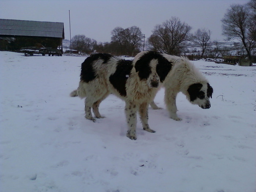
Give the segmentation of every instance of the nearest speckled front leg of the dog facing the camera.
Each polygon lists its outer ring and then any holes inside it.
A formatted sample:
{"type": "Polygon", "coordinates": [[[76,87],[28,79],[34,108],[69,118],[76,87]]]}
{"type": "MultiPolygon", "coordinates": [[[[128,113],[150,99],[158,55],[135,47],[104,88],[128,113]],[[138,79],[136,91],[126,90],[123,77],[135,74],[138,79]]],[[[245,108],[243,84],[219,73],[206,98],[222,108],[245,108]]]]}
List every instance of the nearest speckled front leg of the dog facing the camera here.
{"type": "Polygon", "coordinates": [[[128,125],[126,136],[132,140],[136,140],[136,124],[137,124],[137,108],[132,102],[125,102],[125,114],[128,125]]]}

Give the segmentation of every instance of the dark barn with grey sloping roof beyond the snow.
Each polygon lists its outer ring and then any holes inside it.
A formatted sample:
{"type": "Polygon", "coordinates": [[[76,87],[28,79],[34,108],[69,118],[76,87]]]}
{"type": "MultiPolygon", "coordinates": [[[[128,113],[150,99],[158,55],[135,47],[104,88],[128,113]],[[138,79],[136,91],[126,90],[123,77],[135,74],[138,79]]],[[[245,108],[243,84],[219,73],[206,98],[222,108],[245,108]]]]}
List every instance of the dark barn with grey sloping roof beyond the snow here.
{"type": "Polygon", "coordinates": [[[0,19],[0,50],[43,45],[62,50],[64,23],[0,19]]]}

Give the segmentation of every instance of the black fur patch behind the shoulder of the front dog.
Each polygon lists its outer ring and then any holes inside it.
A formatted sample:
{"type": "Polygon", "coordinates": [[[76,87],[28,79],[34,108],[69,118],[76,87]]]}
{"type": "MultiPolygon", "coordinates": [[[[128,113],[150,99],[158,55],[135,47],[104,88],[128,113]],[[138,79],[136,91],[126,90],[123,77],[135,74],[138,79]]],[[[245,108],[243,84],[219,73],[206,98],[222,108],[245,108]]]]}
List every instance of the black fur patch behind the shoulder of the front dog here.
{"type": "Polygon", "coordinates": [[[132,67],[132,61],[120,60],[117,63],[116,71],[109,77],[110,83],[120,93],[120,95],[124,97],[126,96],[125,84],[127,78],[131,74],[132,67]]]}

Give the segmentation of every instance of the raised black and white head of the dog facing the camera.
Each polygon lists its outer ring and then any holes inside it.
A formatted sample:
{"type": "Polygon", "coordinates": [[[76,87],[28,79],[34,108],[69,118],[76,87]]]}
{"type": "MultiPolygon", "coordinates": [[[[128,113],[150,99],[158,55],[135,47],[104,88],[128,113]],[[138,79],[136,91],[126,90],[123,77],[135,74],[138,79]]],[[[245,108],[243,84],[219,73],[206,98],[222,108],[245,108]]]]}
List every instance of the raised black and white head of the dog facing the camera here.
{"type": "Polygon", "coordinates": [[[171,62],[161,53],[153,51],[143,53],[135,63],[135,70],[138,72],[140,80],[146,80],[147,85],[151,88],[159,87],[171,68],[171,62]]]}

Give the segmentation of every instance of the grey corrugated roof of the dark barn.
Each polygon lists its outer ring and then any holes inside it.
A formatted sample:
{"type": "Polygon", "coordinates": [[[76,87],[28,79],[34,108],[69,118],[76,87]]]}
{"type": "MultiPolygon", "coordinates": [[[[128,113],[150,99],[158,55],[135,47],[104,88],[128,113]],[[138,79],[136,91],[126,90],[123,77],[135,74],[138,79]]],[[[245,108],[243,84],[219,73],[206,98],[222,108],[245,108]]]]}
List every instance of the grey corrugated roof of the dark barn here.
{"type": "Polygon", "coordinates": [[[64,23],[0,19],[0,35],[64,38],[64,23]]]}

